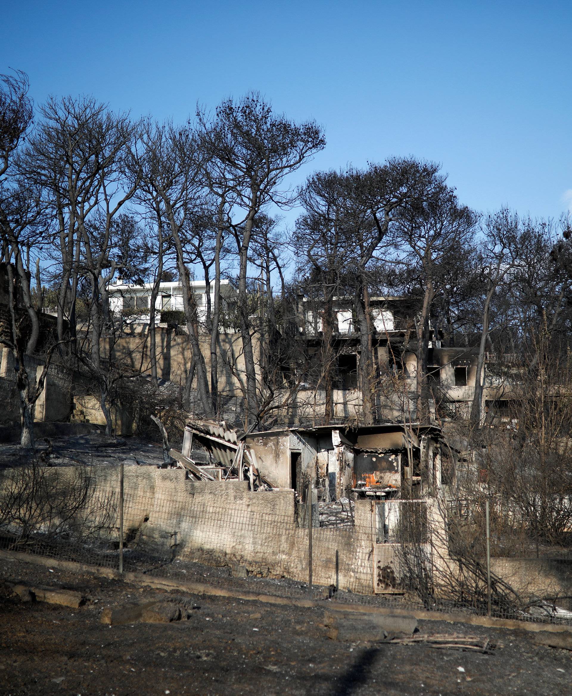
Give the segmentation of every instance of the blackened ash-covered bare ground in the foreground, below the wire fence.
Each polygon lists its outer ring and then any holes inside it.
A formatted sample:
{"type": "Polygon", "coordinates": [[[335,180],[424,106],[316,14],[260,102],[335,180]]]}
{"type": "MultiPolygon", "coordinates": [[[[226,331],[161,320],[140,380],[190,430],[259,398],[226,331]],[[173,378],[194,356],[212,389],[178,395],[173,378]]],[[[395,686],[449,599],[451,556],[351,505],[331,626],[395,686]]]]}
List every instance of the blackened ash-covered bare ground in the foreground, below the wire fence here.
{"type": "Polygon", "coordinates": [[[3,559],[0,580],[88,595],[79,609],[22,603],[0,582],[2,695],[552,696],[570,688],[572,654],[537,646],[526,631],[419,622],[421,634],[487,637],[492,654],[338,642],[321,625],[327,601],[322,609],[184,595],[3,559]],[[195,608],[171,624],[100,622],[105,607],[156,599],[195,608]]]}

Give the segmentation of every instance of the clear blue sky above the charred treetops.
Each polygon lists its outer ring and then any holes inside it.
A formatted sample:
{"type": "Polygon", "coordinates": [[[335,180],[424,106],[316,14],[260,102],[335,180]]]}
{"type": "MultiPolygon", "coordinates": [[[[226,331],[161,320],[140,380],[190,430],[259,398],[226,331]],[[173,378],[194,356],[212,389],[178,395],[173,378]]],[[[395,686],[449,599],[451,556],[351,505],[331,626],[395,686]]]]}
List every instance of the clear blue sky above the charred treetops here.
{"type": "Polygon", "coordinates": [[[325,127],[293,184],[416,155],[476,209],[572,207],[570,1],[3,0],[2,24],[0,72],[28,72],[36,102],[183,120],[255,89],[325,127]]]}

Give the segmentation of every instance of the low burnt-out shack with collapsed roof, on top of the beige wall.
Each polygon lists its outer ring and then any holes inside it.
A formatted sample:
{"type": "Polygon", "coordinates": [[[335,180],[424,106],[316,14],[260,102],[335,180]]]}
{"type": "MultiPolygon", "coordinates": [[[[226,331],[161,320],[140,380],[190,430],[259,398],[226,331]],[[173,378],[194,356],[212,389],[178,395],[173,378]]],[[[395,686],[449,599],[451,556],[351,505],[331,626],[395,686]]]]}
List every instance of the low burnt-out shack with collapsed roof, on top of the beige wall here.
{"type": "MultiPolygon", "coordinates": [[[[274,489],[293,489],[304,498],[309,484],[318,500],[421,498],[455,477],[456,453],[434,425],[322,425],[237,434],[224,424],[188,422],[183,454],[191,441],[209,453],[225,475],[256,476],[274,489]],[[237,466],[240,447],[247,466],[237,466]],[[249,473],[250,468],[250,473],[249,473]],[[254,470],[254,474],[252,471],[254,470]]],[[[242,460],[241,460],[242,461],[242,460]]]]}

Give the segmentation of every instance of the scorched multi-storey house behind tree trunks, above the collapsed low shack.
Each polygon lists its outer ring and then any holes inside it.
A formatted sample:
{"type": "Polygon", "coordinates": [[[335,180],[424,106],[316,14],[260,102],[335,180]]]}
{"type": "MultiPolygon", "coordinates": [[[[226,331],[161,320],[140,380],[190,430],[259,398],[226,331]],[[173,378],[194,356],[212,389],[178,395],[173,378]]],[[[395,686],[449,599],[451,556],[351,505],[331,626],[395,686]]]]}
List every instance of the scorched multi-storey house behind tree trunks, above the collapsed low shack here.
{"type": "MultiPolygon", "coordinates": [[[[381,384],[384,377],[394,375],[409,385],[409,403],[405,406],[405,413],[400,398],[395,398],[388,390],[379,389],[376,396],[378,418],[392,422],[416,420],[418,302],[408,297],[377,296],[371,297],[369,304],[375,377],[381,384]]],[[[362,403],[358,370],[361,346],[353,299],[334,298],[333,314],[331,340],[334,364],[329,375],[332,379],[333,401],[331,422],[341,423],[352,419],[359,422],[362,403]]],[[[298,368],[304,371],[298,376],[300,389],[295,395],[294,409],[291,409],[291,413],[285,418],[291,425],[307,421],[309,416],[313,421],[316,416],[319,418],[325,409],[326,398],[321,351],[324,317],[320,299],[313,300],[301,295],[298,298],[297,316],[297,336],[307,356],[307,363],[298,368]],[[319,398],[316,398],[316,393],[320,393],[319,398]],[[319,406],[316,406],[317,402],[319,406]]],[[[441,421],[457,417],[467,418],[475,392],[478,349],[448,347],[443,342],[443,335],[433,330],[425,338],[425,389],[430,408],[441,421]]],[[[517,371],[518,356],[485,354],[481,374],[482,418],[487,414],[496,414],[501,420],[507,419],[504,414],[509,411],[512,384],[517,381],[517,371]]]]}

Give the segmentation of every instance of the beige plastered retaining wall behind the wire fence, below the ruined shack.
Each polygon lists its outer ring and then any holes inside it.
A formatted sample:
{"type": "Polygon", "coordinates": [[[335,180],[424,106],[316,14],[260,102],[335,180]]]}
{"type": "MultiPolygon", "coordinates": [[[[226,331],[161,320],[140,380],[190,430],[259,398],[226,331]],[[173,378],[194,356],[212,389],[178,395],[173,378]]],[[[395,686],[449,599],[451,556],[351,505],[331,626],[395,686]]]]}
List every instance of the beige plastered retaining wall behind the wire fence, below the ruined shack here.
{"type": "MultiPolygon", "coordinates": [[[[17,471],[17,470],[13,470],[17,471]]],[[[46,468],[51,488],[70,489],[75,467],[46,468]]],[[[17,475],[17,474],[16,474],[17,475]]],[[[95,495],[85,517],[106,541],[117,541],[120,470],[92,468],[95,495]],[[101,516],[101,521],[99,519],[101,516]]],[[[371,594],[371,505],[358,501],[356,526],[313,528],[313,580],[371,594]]],[[[245,566],[250,574],[308,580],[308,529],[295,520],[294,492],[252,493],[247,482],[195,482],[182,469],[128,466],[124,470],[124,543],[150,562],[177,557],[213,566],[245,566]]]]}

